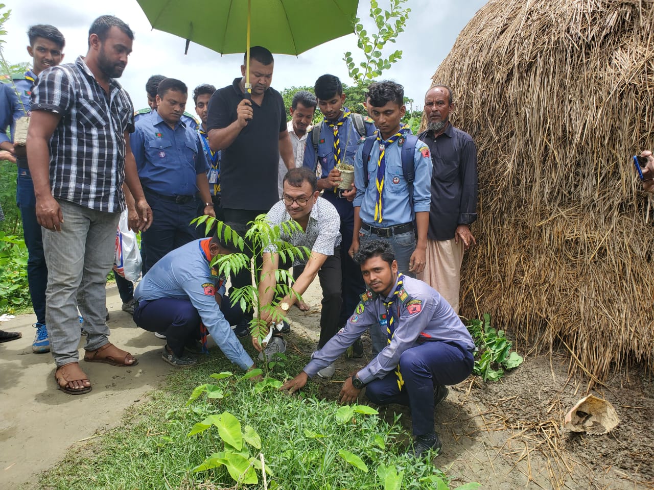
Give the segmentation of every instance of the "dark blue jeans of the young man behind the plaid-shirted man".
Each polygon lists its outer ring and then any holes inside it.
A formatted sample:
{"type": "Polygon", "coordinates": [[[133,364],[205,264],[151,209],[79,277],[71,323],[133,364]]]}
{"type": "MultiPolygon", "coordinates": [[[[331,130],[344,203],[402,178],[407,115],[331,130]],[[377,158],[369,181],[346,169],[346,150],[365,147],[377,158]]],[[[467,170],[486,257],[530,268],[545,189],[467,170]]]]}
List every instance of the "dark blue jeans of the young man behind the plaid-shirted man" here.
{"type": "Polygon", "coordinates": [[[19,168],[16,178],[16,204],[20,210],[23,234],[27,246],[27,284],[37,322],[45,323],[45,290],[48,286],[48,266],[43,254],[41,225],[37,222],[34,185],[28,169],[19,168]]]}

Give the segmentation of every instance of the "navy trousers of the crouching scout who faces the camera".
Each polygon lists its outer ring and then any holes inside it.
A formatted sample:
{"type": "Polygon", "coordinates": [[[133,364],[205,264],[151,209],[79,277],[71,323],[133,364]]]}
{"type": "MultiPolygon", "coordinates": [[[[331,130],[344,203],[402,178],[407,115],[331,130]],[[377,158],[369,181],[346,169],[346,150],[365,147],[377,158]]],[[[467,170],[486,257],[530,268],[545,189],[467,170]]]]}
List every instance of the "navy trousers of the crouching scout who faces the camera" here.
{"type": "Polygon", "coordinates": [[[472,352],[458,344],[424,342],[405,350],[400,356],[404,379],[398,387],[395,372],[366,385],[366,397],[377,405],[397,403],[411,410],[413,435],[434,434],[434,390],[437,385],[455,385],[472,372],[472,352]]]}

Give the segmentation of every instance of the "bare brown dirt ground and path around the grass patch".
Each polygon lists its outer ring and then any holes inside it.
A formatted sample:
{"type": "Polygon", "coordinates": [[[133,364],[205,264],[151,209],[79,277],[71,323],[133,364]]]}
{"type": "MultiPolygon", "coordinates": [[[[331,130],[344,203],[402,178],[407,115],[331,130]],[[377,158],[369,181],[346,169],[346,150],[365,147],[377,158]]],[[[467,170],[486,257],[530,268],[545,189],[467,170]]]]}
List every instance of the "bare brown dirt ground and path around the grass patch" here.
{"type": "MultiPolygon", "coordinates": [[[[308,313],[292,308],[294,335],[318,338],[320,289],[306,295],[308,313]]],[[[31,353],[33,316],[0,328],[22,331],[23,338],[0,344],[0,488],[37,482],[71,446],[84,444],[102,427],[120,421],[171,368],[163,363],[163,341],[135,328],[120,311],[115,286],[107,289],[112,341],[139,358],[134,368],[89,365],[94,390],[72,397],[56,389],[49,354],[31,353]]],[[[364,339],[370,355],[370,342],[364,339]]],[[[520,352],[525,354],[524,352],[520,352]]],[[[341,359],[334,380],[320,380],[320,392],[336,397],[342,380],[366,359],[341,359]],[[341,380],[341,382],[339,382],[341,380]]],[[[609,400],[619,425],[602,436],[562,431],[564,414],[583,397],[583,388],[566,382],[566,355],[525,356],[525,363],[497,383],[477,378],[450,387],[436,414],[443,451],[435,463],[456,483],[479,482],[483,489],[654,489],[654,380],[644,372],[616,373],[593,393],[609,400]]],[[[400,406],[382,412],[408,414],[400,406]]],[[[402,417],[407,429],[408,417],[402,417]]],[[[35,485],[34,485],[35,486],[35,485]]],[[[453,485],[456,486],[456,485],[453,485]]]]}

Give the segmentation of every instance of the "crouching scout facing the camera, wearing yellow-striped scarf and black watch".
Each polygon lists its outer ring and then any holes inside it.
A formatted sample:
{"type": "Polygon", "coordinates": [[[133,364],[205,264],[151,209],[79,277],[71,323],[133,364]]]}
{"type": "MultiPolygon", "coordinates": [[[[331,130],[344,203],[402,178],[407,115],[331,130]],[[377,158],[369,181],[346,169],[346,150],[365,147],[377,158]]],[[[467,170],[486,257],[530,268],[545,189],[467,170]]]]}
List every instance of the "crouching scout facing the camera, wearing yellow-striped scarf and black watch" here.
{"type": "Polygon", "coordinates": [[[390,244],[365,242],[354,261],[360,265],[368,287],[362,301],[345,328],[315,351],[302,372],[281,389],[290,393],[301,389],[366,329],[380,329],[387,345],[366,367],[347,378],[339,399],[354,402],[365,387],[373,403],[409,406],[415,441],[408,453],[420,458],[428,449],[439,451],[434,407],[447,397],[445,385],[462,382],[472,372],[475,344],[435,289],[398,274],[390,244]]]}

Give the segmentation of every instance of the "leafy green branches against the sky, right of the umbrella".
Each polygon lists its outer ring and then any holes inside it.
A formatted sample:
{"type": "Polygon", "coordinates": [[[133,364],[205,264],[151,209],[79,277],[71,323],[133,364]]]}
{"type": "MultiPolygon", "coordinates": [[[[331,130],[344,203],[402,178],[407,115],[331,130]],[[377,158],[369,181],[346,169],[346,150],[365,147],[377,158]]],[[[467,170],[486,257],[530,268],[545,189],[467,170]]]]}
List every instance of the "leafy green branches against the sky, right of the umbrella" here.
{"type": "Polygon", "coordinates": [[[396,42],[398,35],[404,32],[411,12],[411,8],[404,8],[403,4],[406,2],[407,0],[390,0],[390,10],[383,10],[379,8],[377,0],[371,0],[370,18],[375,23],[376,29],[372,35],[368,35],[360,18],[354,19],[356,45],[363,52],[364,60],[356,66],[353,54],[348,51],[343,61],[347,65],[350,78],[356,85],[362,86],[366,80],[381,76],[383,71],[390,69],[390,65],[402,57],[402,50],[395,50],[388,57],[383,57],[382,52],[388,42],[396,42]]]}

